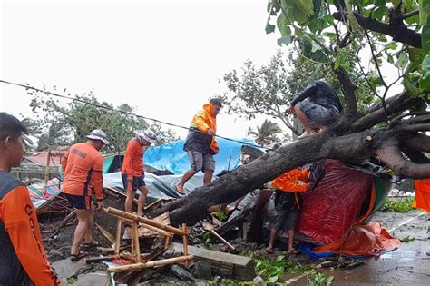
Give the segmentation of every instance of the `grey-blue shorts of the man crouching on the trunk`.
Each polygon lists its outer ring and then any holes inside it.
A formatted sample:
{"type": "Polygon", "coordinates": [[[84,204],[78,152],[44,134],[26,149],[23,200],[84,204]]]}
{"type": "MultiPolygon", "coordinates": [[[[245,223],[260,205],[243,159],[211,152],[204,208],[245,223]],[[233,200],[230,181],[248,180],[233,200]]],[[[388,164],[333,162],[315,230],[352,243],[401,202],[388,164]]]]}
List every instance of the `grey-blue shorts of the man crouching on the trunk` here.
{"type": "Polygon", "coordinates": [[[336,107],[327,108],[319,104],[314,104],[308,100],[299,102],[298,108],[308,116],[310,124],[328,125],[334,123],[339,112],[336,107]]]}

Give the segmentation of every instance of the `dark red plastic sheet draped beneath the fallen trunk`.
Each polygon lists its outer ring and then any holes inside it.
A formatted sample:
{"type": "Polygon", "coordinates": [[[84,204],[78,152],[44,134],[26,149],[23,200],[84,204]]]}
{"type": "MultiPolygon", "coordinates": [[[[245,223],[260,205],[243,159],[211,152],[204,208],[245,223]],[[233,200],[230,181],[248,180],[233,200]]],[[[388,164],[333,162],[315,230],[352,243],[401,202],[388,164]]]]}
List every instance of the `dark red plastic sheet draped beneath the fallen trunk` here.
{"type": "Polygon", "coordinates": [[[322,244],[337,242],[357,221],[372,190],[371,175],[327,161],[326,176],[318,187],[302,196],[297,231],[322,244]]]}

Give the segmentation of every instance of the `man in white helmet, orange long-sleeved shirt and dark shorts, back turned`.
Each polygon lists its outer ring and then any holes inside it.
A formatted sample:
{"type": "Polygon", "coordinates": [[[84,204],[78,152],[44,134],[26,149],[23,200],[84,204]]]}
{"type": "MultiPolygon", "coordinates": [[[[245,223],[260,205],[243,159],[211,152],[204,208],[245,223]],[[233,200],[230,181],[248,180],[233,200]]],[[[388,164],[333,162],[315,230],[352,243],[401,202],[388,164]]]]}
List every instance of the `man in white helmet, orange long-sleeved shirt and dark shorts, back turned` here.
{"type": "Polygon", "coordinates": [[[83,239],[85,248],[100,245],[93,239],[92,186],[94,187],[97,210],[103,208],[103,156],[100,153],[109,144],[106,133],[93,130],[85,143],[74,144],[62,160],[64,173],[63,193],[72,204],[78,225],[74,231],[71,261],[79,261],[86,253],[80,251],[83,239]]]}

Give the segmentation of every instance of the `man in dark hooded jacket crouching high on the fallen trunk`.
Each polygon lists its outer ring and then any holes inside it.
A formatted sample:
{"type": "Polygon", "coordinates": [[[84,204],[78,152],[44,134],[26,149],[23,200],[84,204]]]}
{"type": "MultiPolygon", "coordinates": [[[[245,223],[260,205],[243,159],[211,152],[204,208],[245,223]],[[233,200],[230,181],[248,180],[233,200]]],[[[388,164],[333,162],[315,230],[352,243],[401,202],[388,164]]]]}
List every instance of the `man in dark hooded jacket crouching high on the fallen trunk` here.
{"type": "Polygon", "coordinates": [[[298,136],[298,139],[303,139],[326,130],[328,124],[334,123],[342,112],[342,104],[333,87],[319,80],[299,93],[287,111],[295,113],[303,124],[305,132],[298,136]],[[304,101],[306,98],[308,100],[304,101]]]}

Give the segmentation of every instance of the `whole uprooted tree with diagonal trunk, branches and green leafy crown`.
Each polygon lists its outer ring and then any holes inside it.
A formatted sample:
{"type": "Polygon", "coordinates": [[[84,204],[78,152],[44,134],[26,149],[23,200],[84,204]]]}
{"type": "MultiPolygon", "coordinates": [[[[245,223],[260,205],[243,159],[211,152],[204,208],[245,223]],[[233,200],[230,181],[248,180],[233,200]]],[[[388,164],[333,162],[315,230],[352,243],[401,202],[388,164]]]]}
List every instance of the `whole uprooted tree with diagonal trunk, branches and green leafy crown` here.
{"type": "Polygon", "coordinates": [[[172,224],[192,224],[211,205],[233,202],[288,170],[324,158],[360,162],[375,157],[401,177],[430,178],[425,156],[430,152],[425,135],[430,131],[430,1],[270,0],[268,11],[266,32],[275,30],[270,20],[276,18],[279,44],[298,45],[301,56],[337,74],[346,111],[326,132],[282,145],[152,215],[170,211],[172,224]],[[378,99],[367,113],[357,112],[346,47],[356,51],[357,65],[378,99]],[[392,82],[383,73],[387,68],[398,73],[392,82]],[[396,83],[403,91],[387,96],[396,83]]]}

